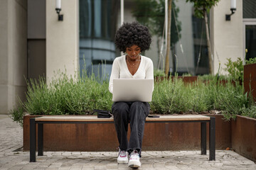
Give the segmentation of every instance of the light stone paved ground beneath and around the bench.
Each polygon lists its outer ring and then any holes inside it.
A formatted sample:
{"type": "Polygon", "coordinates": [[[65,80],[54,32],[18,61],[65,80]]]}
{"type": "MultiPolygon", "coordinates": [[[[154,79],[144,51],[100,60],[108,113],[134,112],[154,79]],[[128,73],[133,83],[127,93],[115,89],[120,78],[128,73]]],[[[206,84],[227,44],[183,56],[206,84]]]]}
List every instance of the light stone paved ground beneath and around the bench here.
{"type": "MultiPolygon", "coordinates": [[[[23,152],[22,128],[0,115],[0,169],[129,169],[117,164],[117,152],[44,152],[29,162],[23,152]]],[[[256,164],[233,151],[216,151],[216,161],[200,151],[142,152],[140,169],[256,169],[256,164]]]]}

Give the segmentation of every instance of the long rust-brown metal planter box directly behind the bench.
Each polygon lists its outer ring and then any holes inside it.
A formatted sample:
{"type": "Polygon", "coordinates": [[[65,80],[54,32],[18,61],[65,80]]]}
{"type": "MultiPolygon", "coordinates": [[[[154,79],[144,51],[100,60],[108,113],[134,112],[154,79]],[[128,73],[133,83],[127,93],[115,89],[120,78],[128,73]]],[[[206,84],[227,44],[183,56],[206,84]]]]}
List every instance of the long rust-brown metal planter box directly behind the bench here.
{"type": "MultiPolygon", "coordinates": [[[[222,115],[211,116],[215,116],[216,149],[231,147],[231,123],[223,120],[222,115]]],[[[36,116],[26,115],[23,118],[24,150],[29,149],[29,119],[33,117],[36,116]]],[[[113,123],[46,124],[43,128],[45,151],[117,151],[113,123]]],[[[200,130],[200,123],[146,123],[143,150],[200,150],[200,130]]]]}

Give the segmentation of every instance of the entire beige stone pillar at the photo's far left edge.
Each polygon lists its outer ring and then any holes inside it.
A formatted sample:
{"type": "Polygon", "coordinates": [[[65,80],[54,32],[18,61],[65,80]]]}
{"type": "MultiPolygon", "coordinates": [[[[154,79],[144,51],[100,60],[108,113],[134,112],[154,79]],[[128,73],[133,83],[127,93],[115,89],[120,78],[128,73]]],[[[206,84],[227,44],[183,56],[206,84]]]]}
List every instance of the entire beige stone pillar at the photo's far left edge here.
{"type": "Polygon", "coordinates": [[[0,114],[8,113],[24,99],[26,91],[26,0],[1,1],[0,114]],[[3,39],[2,39],[3,38],[3,39]]]}

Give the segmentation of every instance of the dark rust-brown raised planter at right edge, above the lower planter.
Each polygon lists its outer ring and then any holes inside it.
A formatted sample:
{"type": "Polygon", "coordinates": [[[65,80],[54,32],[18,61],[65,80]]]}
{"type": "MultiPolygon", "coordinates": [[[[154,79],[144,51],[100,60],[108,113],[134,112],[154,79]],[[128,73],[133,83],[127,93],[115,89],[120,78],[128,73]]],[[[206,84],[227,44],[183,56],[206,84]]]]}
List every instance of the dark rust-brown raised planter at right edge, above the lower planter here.
{"type": "Polygon", "coordinates": [[[256,101],[256,63],[244,65],[245,92],[252,91],[252,97],[256,101]]]}

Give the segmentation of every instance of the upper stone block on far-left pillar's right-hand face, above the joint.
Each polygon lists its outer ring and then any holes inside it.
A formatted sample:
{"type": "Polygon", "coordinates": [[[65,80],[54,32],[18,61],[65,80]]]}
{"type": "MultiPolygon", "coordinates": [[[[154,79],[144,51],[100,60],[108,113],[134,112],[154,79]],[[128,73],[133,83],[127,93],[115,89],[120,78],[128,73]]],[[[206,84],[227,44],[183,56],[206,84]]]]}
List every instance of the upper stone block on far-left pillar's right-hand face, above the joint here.
{"type": "Polygon", "coordinates": [[[19,87],[26,86],[27,74],[27,11],[23,1],[12,1],[9,8],[9,85],[19,87]]]}

